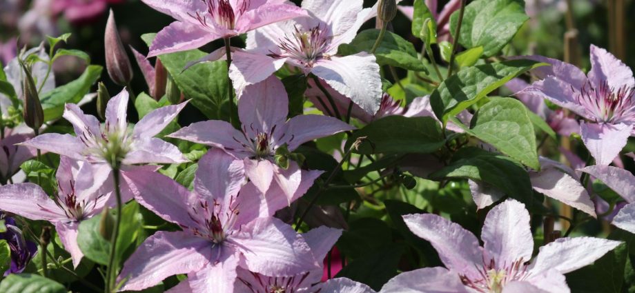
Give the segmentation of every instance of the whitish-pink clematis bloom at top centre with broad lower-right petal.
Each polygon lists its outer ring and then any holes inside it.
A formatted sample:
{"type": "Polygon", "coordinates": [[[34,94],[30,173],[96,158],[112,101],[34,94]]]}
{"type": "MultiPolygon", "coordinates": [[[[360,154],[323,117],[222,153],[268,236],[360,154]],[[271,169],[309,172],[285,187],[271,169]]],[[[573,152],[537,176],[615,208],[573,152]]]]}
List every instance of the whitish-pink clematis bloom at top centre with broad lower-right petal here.
{"type": "Polygon", "coordinates": [[[382,81],[375,56],[366,52],[337,56],[338,46],[350,43],[362,24],[377,13],[376,7],[362,9],[362,2],[304,0],[302,8],[310,17],[248,32],[246,50],[233,52],[229,73],[237,96],[242,97],[247,85],[263,81],[286,63],[319,77],[365,111],[377,111],[382,81]]]}

